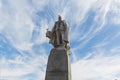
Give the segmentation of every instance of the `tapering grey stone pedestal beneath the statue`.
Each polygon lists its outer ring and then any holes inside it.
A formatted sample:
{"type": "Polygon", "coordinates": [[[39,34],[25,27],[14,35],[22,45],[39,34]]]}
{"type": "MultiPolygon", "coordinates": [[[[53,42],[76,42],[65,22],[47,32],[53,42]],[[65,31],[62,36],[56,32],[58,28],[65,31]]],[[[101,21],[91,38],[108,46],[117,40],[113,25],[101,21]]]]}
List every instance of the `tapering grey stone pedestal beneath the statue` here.
{"type": "Polygon", "coordinates": [[[45,80],[71,80],[69,52],[53,48],[48,58],[45,80]]]}

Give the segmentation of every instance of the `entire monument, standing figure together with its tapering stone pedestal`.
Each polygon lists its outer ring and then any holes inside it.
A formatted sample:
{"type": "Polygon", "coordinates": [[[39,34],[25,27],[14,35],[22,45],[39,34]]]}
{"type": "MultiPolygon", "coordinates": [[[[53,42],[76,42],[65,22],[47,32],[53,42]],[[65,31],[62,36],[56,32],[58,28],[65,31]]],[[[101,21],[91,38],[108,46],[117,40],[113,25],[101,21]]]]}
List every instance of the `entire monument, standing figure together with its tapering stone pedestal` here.
{"type": "Polygon", "coordinates": [[[69,29],[61,16],[51,31],[46,32],[49,43],[54,46],[48,57],[45,80],[71,80],[69,29]]]}

